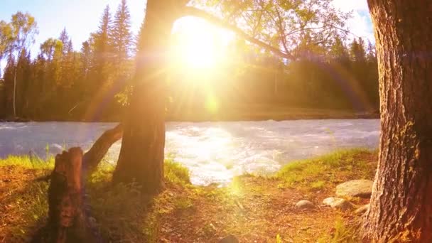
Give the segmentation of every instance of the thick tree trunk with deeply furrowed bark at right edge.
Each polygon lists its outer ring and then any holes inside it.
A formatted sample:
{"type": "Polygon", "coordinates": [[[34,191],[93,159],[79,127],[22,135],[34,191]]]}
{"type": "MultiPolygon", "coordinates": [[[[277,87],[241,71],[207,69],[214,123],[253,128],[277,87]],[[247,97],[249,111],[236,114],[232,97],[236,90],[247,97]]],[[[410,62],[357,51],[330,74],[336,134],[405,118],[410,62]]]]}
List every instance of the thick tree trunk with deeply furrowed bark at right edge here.
{"type": "Polygon", "coordinates": [[[368,3],[382,134],[365,239],[432,242],[432,1],[368,3]]]}

